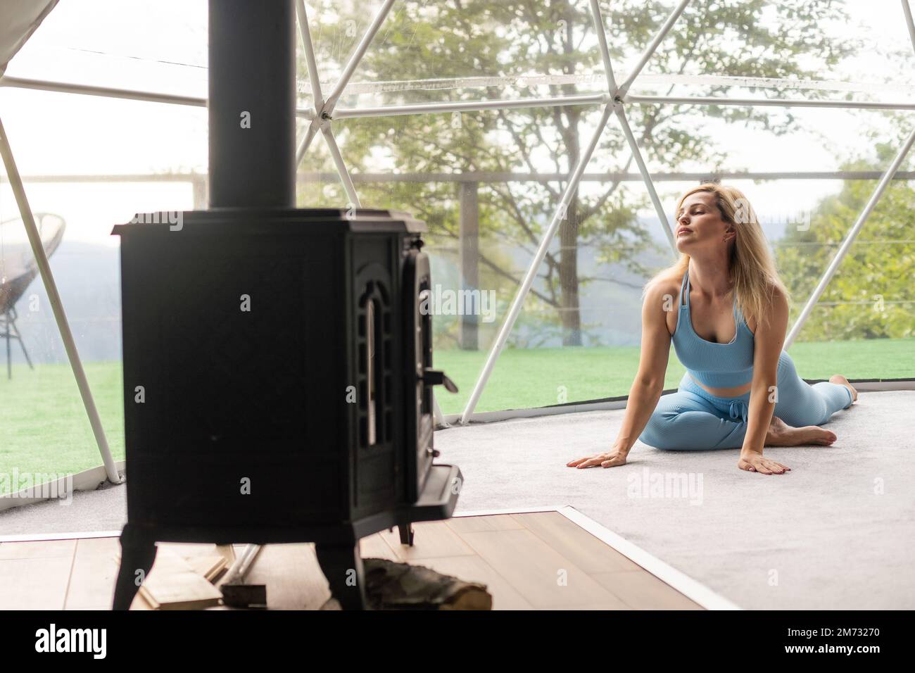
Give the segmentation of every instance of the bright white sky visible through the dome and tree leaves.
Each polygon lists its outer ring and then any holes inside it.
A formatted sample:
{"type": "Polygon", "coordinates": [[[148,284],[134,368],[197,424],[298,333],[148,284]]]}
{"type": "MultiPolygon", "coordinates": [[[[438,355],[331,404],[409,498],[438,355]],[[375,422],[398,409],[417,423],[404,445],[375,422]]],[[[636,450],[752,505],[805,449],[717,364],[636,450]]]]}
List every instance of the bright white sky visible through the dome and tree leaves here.
{"type": "MultiPolygon", "coordinates": [[[[312,5],[308,3],[309,8],[312,5]]],[[[371,3],[366,22],[378,5],[377,0],[371,3]]],[[[866,38],[880,49],[898,49],[905,55],[888,62],[877,49],[867,49],[846,71],[831,73],[834,76],[828,79],[885,81],[896,73],[896,81],[913,83],[911,74],[899,74],[915,72],[899,1],[850,0],[848,5],[856,20],[841,28],[847,35],[866,38]],[[880,74],[875,77],[874,73],[880,74]]],[[[12,61],[7,74],[205,97],[206,11],[205,0],[61,2],[12,61]]],[[[311,17],[317,36],[317,13],[311,17]]],[[[630,65],[624,63],[617,71],[626,72],[630,65]]],[[[651,62],[645,72],[651,72],[651,62]]],[[[360,81],[358,70],[352,81],[360,81]]],[[[676,93],[689,91],[681,87],[674,90],[676,93]]],[[[791,95],[802,97],[803,92],[791,95]]],[[[833,95],[839,98],[841,94],[833,95]]],[[[904,99],[895,93],[879,97],[904,99]]],[[[772,114],[783,114],[784,110],[768,109],[772,114]]],[[[776,137],[738,125],[719,125],[720,142],[727,147],[731,164],[727,168],[834,170],[836,152],[869,153],[871,143],[861,133],[862,120],[879,124],[882,119],[876,112],[793,111],[802,124],[819,129],[823,136],[776,137]]],[[[23,175],[206,171],[207,115],[202,108],[0,88],[0,114],[23,175]]],[[[610,123],[616,124],[612,118],[610,123]]],[[[718,131],[715,125],[706,130],[718,131]]],[[[342,149],[345,156],[345,146],[342,149]]],[[[682,168],[707,169],[701,157],[694,166],[682,168]]],[[[634,164],[631,169],[636,169],[634,164]]],[[[838,183],[796,180],[738,186],[747,192],[761,218],[778,220],[810,209],[815,201],[836,190],[838,183]]],[[[643,189],[639,184],[632,187],[643,189]]],[[[683,187],[657,185],[668,212],[673,211],[672,190],[683,187]]],[[[117,240],[109,235],[113,223],[126,221],[134,212],[192,207],[190,187],[184,184],[31,183],[27,191],[33,210],[64,216],[68,238],[95,244],[116,245],[117,240]]],[[[651,210],[643,214],[654,217],[651,210]]],[[[8,186],[0,185],[0,218],[16,216],[8,186]]]]}

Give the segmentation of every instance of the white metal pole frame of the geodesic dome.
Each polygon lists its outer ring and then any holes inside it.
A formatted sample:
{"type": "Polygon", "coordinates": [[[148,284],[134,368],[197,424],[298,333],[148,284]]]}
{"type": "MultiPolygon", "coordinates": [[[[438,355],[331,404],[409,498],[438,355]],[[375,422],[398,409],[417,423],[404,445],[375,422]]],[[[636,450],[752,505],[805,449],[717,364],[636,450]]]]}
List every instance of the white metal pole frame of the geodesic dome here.
{"type": "MultiPolygon", "coordinates": [[[[13,57],[13,55],[16,53],[16,50],[21,48],[22,44],[26,41],[31,32],[34,31],[36,27],[38,27],[38,24],[41,22],[41,20],[47,16],[48,12],[53,8],[54,5],[56,5],[56,2],[57,0],[11,0],[11,2],[5,5],[3,12],[6,15],[5,18],[8,17],[9,19],[5,21],[5,24],[7,27],[10,27],[10,29],[6,30],[5,32],[0,32],[0,73],[5,71],[5,63],[13,57]]],[[[641,71],[649,62],[649,60],[651,60],[652,54],[662,43],[662,40],[665,38],[665,36],[670,32],[677,19],[684,13],[684,10],[686,9],[687,5],[689,5],[690,0],[680,0],[680,2],[673,9],[673,12],[670,14],[670,16],[667,17],[667,19],[662,24],[662,27],[651,40],[651,43],[647,46],[646,49],[644,49],[636,65],[632,68],[632,70],[627,74],[626,78],[621,83],[617,81],[610,61],[607,28],[601,16],[599,5],[597,0],[588,0],[590,15],[597,35],[597,42],[600,49],[601,59],[603,61],[604,75],[607,84],[605,92],[574,96],[518,98],[509,100],[482,100],[458,103],[421,103],[406,105],[384,105],[376,107],[338,108],[337,103],[339,101],[339,97],[344,91],[348,89],[350,78],[359,66],[362,57],[366,53],[366,50],[369,48],[373,38],[375,38],[379,28],[382,27],[385,17],[389,14],[394,2],[395,0],[383,0],[382,6],[372,18],[371,24],[367,28],[365,34],[362,36],[357,48],[347,60],[339,80],[336,82],[333,89],[329,93],[325,94],[325,92],[323,92],[321,89],[320,81],[318,78],[318,64],[315,58],[315,49],[312,43],[311,31],[308,26],[306,6],[303,0],[296,0],[296,16],[298,18],[298,25],[302,42],[305,47],[308,79],[310,81],[314,103],[314,106],[310,109],[300,108],[296,110],[297,116],[306,119],[308,122],[306,134],[299,142],[298,147],[296,147],[296,166],[301,163],[307,153],[308,147],[310,147],[312,141],[314,140],[314,137],[318,135],[318,132],[320,132],[328,146],[330,157],[334,162],[335,168],[339,174],[340,182],[343,186],[343,189],[346,191],[347,198],[349,199],[351,206],[355,206],[357,208],[361,207],[361,202],[359,195],[357,194],[353,185],[353,181],[350,178],[350,171],[344,162],[336,138],[334,136],[332,126],[332,122],[334,120],[363,116],[435,114],[443,112],[459,113],[462,111],[497,110],[535,106],[567,106],[587,104],[599,104],[603,106],[603,111],[597,127],[591,135],[587,146],[584,149],[584,152],[579,157],[575,168],[571,170],[567,179],[565,180],[565,189],[562,191],[562,195],[558,203],[555,205],[553,217],[541,237],[536,253],[533,256],[533,259],[523,276],[521,286],[518,288],[514,298],[511,301],[511,306],[503,322],[501,323],[501,328],[498,331],[496,340],[490,347],[490,353],[487,357],[486,364],[484,365],[483,370],[479,374],[479,378],[474,385],[473,392],[468,399],[468,404],[465,407],[463,413],[459,416],[458,420],[461,424],[467,424],[469,421],[475,418],[474,409],[479,401],[479,397],[490,378],[490,374],[496,363],[496,360],[499,357],[499,353],[501,353],[501,349],[504,347],[506,340],[508,339],[515,324],[515,321],[521,312],[524,299],[527,297],[533,286],[533,281],[536,276],[537,269],[544,261],[544,256],[546,255],[547,248],[553,241],[555,233],[559,229],[560,223],[565,219],[565,212],[568,208],[571,195],[575,192],[576,187],[581,180],[585,169],[587,168],[588,162],[590,161],[594,150],[597,147],[600,136],[602,135],[604,129],[608,126],[609,118],[611,115],[615,115],[619,121],[620,129],[626,137],[626,141],[630,147],[632,156],[639,167],[641,178],[644,182],[646,190],[649,193],[654,210],[657,213],[660,222],[662,223],[663,232],[668,242],[671,244],[673,254],[676,254],[673,230],[668,222],[667,215],[663,210],[661,200],[659,199],[658,194],[654,188],[651,173],[642,157],[638,142],[636,141],[636,138],[633,136],[630,129],[629,120],[626,114],[626,108],[629,106],[629,104],[634,103],[640,105],[658,105],[679,103],[693,105],[769,105],[785,107],[832,107],[849,109],[869,108],[884,110],[915,109],[915,103],[868,103],[829,100],[814,101],[804,99],[754,99],[726,96],[674,97],[631,94],[629,92],[631,85],[640,77],[641,71]]],[[[913,26],[909,0],[901,0],[901,4],[904,19],[909,30],[912,47],[915,49],[915,26],[913,26]]],[[[670,79],[667,81],[675,80],[676,76],[670,76],[670,79]]],[[[744,83],[744,85],[759,87],[773,87],[787,83],[787,81],[778,80],[763,81],[759,78],[740,78],[740,80],[744,83]]],[[[797,84],[798,82],[792,81],[792,83],[797,84]]],[[[91,94],[156,103],[176,103],[195,106],[207,105],[207,101],[201,98],[175,96],[152,92],[129,91],[124,89],[91,87],[78,84],[64,84],[61,82],[52,81],[34,81],[0,77],[0,86],[14,86],[46,91],[91,94]]],[[[880,200],[880,197],[888,187],[889,181],[893,179],[894,175],[899,169],[899,166],[902,164],[903,160],[910,151],[913,143],[915,143],[915,131],[912,131],[910,136],[908,136],[902,147],[900,147],[896,157],[894,157],[894,159],[890,162],[888,168],[886,168],[882,174],[882,177],[879,179],[877,187],[873,190],[869,200],[867,201],[867,204],[863,208],[862,212],[859,213],[856,222],[846,233],[845,239],[836,251],[829,266],[823,272],[823,275],[819,279],[816,288],[814,288],[813,293],[806,300],[800,316],[791,326],[791,330],[788,333],[784,345],[786,349],[791,346],[791,343],[796,339],[798,333],[801,331],[804,322],[809,318],[813,307],[817,303],[818,299],[820,299],[820,297],[823,295],[823,291],[829,284],[832,277],[834,277],[836,269],[841,264],[851,245],[854,244],[857,235],[861,232],[864,226],[864,223],[867,222],[868,216],[874,210],[875,206],[877,205],[877,201],[880,200]]],[[[3,153],[6,170],[10,176],[10,182],[16,194],[16,201],[22,214],[23,220],[26,223],[30,241],[33,242],[33,249],[38,260],[38,266],[41,270],[41,275],[45,281],[46,287],[48,288],[48,296],[54,309],[55,319],[58,322],[61,337],[65,343],[65,346],[67,347],[67,353],[70,358],[70,364],[73,367],[74,375],[76,376],[77,382],[80,385],[83,403],[92,422],[92,429],[95,434],[95,439],[99,444],[99,449],[102,452],[102,458],[105,462],[106,472],[108,473],[109,479],[111,479],[113,482],[117,482],[119,481],[118,475],[114,469],[114,464],[111,458],[110,450],[108,450],[107,447],[107,442],[104,439],[101,421],[98,418],[98,413],[96,412],[94,403],[92,402],[92,393],[89,389],[88,382],[85,380],[85,374],[82,373],[79,354],[76,352],[76,347],[72,340],[72,335],[70,333],[70,327],[67,323],[66,315],[64,314],[63,307],[60,304],[59,294],[54,286],[54,280],[51,276],[47,258],[44,257],[43,251],[40,250],[40,245],[35,247],[34,241],[38,240],[35,236],[33,236],[32,233],[33,230],[35,230],[35,223],[28,208],[25,190],[23,189],[22,181],[19,178],[18,171],[16,170],[16,163],[7,142],[5,132],[3,131],[2,122],[0,122],[0,150],[2,150],[3,153]]],[[[441,412],[437,409],[437,405],[436,412],[436,416],[439,418],[439,421],[444,422],[444,418],[442,417],[441,412]]]]}

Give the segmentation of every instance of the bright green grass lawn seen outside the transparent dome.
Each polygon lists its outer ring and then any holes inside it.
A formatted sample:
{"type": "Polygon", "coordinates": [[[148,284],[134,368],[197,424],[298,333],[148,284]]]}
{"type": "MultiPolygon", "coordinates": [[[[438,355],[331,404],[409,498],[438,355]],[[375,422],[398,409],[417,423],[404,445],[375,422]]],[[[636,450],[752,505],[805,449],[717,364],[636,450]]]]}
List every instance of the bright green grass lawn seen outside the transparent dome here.
{"type": "MultiPolygon", "coordinates": [[[[856,378],[915,377],[915,338],[856,342],[811,342],[791,346],[791,357],[806,379],[832,374],[856,378]]],[[[436,351],[436,369],[458,385],[450,394],[437,388],[446,414],[467,403],[487,352],[436,351]]],[[[124,459],[121,363],[84,365],[114,460],[124,459]]],[[[627,395],[639,367],[639,349],[555,348],[505,350],[496,362],[477,411],[545,407],[627,395]]],[[[684,367],[671,349],[665,388],[676,388],[684,367]]],[[[0,494],[18,472],[80,472],[102,464],[67,364],[29,370],[14,366],[13,379],[0,370],[0,494]]]]}

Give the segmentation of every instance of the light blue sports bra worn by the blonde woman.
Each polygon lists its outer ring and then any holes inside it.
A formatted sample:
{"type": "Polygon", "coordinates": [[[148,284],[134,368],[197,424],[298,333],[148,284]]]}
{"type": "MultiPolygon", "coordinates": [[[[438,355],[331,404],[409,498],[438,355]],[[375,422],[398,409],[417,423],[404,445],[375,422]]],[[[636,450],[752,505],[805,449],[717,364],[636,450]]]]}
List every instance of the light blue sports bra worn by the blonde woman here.
{"type": "Polygon", "coordinates": [[[689,268],[680,284],[677,305],[677,328],[673,331],[673,349],[686,371],[708,387],[733,388],[753,380],[753,332],[737,310],[734,301],[734,324],[737,331],[729,343],[709,342],[695,333],[689,310],[689,268]],[[684,288],[686,299],[684,303],[684,288]]]}

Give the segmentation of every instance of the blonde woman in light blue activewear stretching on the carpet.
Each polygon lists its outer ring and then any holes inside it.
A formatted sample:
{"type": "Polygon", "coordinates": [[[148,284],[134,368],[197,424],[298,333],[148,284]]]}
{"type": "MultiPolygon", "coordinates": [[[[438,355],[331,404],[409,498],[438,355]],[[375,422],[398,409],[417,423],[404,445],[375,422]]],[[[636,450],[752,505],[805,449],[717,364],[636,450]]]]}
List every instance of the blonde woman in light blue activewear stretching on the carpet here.
{"type": "Polygon", "coordinates": [[[566,463],[615,467],[636,439],[658,449],[740,449],[737,467],[782,474],[764,446],[830,445],[819,428],[850,407],[845,376],[809,385],[781,350],[789,293],[740,190],[705,183],[677,203],[680,259],[651,278],[642,304],[639,373],[610,450],[566,463]],[[671,342],[686,374],[662,396],[671,342]]]}

